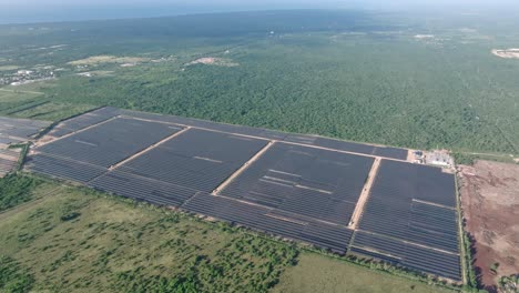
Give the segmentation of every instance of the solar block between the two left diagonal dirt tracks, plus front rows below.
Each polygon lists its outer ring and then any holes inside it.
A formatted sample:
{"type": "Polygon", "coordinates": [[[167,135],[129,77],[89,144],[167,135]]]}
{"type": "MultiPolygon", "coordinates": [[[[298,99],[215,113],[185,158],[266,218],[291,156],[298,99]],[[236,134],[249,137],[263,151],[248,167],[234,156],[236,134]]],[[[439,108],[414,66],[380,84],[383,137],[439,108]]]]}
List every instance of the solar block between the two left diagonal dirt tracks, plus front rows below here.
{"type": "Polygon", "coordinates": [[[164,203],[155,198],[163,195],[171,199],[167,205],[177,206],[199,192],[211,193],[266,144],[263,140],[190,129],[91,185],[159,204],[164,203]]]}

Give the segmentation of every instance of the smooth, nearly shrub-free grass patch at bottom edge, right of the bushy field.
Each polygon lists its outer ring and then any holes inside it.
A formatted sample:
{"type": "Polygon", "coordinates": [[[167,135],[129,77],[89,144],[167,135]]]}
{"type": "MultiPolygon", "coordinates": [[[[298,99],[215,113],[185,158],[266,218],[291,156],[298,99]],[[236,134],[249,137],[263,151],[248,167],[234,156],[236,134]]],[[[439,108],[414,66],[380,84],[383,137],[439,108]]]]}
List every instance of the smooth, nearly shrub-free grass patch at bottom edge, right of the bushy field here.
{"type": "Polygon", "coordinates": [[[449,290],[415,283],[314,253],[302,253],[285,271],[274,293],[432,293],[449,290]]]}

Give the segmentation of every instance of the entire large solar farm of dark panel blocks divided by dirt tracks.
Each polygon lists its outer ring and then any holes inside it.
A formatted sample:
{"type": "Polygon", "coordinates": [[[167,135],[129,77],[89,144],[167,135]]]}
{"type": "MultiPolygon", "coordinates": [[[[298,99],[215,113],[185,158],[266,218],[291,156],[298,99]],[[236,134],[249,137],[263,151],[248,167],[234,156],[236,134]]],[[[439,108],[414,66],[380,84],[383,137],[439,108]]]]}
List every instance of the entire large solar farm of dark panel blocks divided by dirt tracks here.
{"type": "Polygon", "coordinates": [[[408,150],[102,108],[26,170],[461,281],[455,176],[408,150]]]}

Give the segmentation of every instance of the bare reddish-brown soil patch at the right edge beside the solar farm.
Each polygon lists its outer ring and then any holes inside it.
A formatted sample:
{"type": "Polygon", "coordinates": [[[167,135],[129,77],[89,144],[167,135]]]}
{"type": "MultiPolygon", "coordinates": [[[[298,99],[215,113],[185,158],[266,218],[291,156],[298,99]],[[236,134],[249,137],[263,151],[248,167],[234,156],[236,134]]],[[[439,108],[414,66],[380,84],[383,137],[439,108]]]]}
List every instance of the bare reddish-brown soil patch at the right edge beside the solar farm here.
{"type": "Polygon", "coordinates": [[[519,272],[519,165],[478,161],[459,166],[466,231],[476,241],[481,285],[495,291],[501,275],[519,272]],[[490,271],[499,263],[498,274],[490,271]]]}

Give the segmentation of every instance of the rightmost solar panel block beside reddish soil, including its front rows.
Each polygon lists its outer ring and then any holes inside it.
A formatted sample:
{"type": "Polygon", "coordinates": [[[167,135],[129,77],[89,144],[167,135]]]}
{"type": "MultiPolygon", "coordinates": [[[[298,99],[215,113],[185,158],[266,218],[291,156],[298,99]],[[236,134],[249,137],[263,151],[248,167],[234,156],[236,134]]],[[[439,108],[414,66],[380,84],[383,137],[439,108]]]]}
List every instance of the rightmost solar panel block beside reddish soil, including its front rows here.
{"type": "Polygon", "coordinates": [[[460,280],[454,180],[438,168],[383,160],[355,233],[356,251],[460,280]]]}

